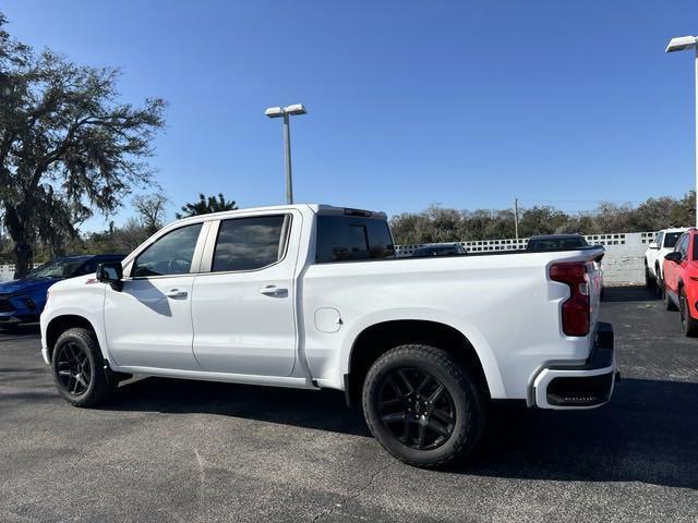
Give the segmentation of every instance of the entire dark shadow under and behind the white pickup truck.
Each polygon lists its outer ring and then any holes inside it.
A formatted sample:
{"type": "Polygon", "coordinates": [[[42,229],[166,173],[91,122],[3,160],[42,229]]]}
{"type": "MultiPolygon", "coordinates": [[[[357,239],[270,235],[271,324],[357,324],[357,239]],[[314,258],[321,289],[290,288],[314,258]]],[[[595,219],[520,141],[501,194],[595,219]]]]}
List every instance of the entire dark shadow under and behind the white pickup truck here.
{"type": "MultiPolygon", "coordinates": [[[[478,459],[449,473],[583,482],[642,482],[698,489],[698,384],[623,379],[590,411],[495,409],[478,459]]],[[[210,413],[370,436],[344,394],[146,378],[120,388],[116,411],[210,413]]]]}

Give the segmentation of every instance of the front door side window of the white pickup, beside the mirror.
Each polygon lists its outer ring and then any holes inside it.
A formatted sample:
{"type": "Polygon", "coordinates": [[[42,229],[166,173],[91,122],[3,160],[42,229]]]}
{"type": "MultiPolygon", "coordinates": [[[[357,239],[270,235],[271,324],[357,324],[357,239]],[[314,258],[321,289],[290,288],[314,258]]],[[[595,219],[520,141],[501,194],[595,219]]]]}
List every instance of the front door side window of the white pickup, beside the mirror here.
{"type": "Polygon", "coordinates": [[[202,223],[194,223],[168,232],[139,255],[131,276],[145,278],[189,273],[201,228],[202,223]]]}

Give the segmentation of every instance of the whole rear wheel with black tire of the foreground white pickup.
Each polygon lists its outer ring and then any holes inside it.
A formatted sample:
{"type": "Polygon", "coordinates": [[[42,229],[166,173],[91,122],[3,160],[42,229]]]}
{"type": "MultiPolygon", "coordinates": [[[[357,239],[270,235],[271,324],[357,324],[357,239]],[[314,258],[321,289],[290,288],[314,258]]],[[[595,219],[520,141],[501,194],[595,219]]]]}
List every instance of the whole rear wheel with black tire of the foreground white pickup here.
{"type": "Polygon", "coordinates": [[[426,344],[400,345],[378,357],[366,374],[362,403],[385,450],[428,469],[462,463],[473,453],[489,406],[470,369],[426,344]]]}

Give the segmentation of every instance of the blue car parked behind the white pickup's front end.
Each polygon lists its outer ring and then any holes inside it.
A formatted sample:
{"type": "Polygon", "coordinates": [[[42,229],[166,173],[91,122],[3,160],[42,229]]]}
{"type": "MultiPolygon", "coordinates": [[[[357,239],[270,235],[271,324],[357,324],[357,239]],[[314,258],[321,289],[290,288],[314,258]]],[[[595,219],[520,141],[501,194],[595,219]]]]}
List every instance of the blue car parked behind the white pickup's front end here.
{"type": "Polygon", "coordinates": [[[121,262],[123,254],[98,254],[57,258],[32,270],[19,280],[0,283],[0,327],[11,329],[20,324],[38,321],[46,291],[59,280],[88,275],[105,262],[121,262]]]}

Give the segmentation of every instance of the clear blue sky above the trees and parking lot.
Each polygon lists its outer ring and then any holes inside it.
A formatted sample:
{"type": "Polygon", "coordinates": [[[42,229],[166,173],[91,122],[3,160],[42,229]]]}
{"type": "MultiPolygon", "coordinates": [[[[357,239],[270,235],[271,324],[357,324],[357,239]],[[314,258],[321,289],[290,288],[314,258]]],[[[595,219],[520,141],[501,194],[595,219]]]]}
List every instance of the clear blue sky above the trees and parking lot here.
{"type": "MultiPolygon", "coordinates": [[[[20,1],[20,39],[123,70],[169,101],[152,163],[176,208],[198,192],[420,210],[638,203],[693,187],[694,1],[20,1]]],[[[124,209],[118,221],[131,214],[124,209]]],[[[93,220],[92,227],[101,227],[93,220]]]]}

